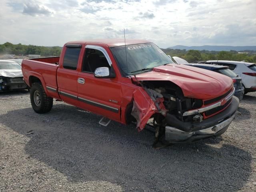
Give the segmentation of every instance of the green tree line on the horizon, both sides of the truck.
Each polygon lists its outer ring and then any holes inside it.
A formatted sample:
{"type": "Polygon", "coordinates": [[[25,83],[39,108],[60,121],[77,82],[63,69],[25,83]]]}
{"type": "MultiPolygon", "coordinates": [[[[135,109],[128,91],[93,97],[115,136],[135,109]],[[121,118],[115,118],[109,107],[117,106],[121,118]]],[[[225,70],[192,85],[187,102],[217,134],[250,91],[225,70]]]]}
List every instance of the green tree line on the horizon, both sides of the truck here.
{"type": "MultiPolygon", "coordinates": [[[[12,44],[6,42],[0,44],[0,55],[2,54],[15,54],[15,55],[28,55],[35,54],[41,56],[60,56],[62,47],[53,46],[35,46],[35,45],[23,45],[12,44]]],[[[193,61],[206,61],[206,60],[232,60],[232,61],[246,61],[256,63],[256,54],[241,54],[237,51],[207,51],[207,50],[180,50],[180,49],[162,49],[167,55],[177,56],[185,59],[188,62],[193,61]]],[[[252,52],[246,50],[246,52],[252,52]]],[[[255,52],[255,51],[254,51],[255,52]]]]}

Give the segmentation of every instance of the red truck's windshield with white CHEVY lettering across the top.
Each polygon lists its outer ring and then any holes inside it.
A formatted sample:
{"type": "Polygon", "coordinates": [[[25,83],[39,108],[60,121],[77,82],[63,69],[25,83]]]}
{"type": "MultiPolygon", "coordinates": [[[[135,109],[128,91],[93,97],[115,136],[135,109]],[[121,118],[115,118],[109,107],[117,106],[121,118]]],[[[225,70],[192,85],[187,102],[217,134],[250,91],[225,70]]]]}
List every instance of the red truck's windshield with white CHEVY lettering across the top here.
{"type": "Polygon", "coordinates": [[[133,44],[110,48],[124,76],[150,70],[156,66],[173,63],[172,60],[153,43],[133,44]],[[126,63],[127,56],[127,63],[126,63]]]}

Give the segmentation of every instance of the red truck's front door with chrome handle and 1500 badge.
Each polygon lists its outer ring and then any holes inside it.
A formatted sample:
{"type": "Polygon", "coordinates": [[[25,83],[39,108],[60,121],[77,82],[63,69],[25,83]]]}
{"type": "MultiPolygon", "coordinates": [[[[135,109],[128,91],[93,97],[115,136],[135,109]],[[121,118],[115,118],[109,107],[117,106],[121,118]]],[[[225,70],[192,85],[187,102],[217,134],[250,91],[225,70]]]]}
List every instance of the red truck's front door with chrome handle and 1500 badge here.
{"type": "MultiPolygon", "coordinates": [[[[95,78],[98,67],[112,67],[106,50],[87,45],[81,71],[78,72],[79,106],[96,114],[120,121],[121,84],[116,78],[95,78]]],[[[113,70],[113,69],[111,69],[113,70]]]]}

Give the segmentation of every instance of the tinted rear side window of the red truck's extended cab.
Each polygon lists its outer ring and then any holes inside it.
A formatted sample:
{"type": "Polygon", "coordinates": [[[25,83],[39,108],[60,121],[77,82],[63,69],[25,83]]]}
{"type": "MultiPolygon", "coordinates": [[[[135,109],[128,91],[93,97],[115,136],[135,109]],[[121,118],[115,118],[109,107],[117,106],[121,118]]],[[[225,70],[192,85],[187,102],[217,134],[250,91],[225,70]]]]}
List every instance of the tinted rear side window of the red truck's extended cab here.
{"type": "Polygon", "coordinates": [[[81,47],[67,47],[63,60],[63,68],[76,70],[81,47]]]}

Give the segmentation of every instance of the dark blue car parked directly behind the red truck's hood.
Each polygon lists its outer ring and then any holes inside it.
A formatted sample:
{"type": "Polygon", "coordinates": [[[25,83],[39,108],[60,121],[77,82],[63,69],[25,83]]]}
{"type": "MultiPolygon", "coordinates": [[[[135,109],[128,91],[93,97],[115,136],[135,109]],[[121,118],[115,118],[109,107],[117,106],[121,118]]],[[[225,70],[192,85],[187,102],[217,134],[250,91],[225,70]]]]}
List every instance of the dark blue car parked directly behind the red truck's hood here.
{"type": "Polygon", "coordinates": [[[232,72],[232,70],[229,69],[228,66],[220,66],[220,65],[211,65],[211,64],[185,64],[189,66],[194,66],[202,69],[211,70],[226,76],[229,76],[232,78],[234,82],[234,88],[236,89],[234,96],[238,97],[239,100],[242,100],[244,97],[244,87],[242,85],[242,78],[240,78],[237,74],[232,72]]]}

